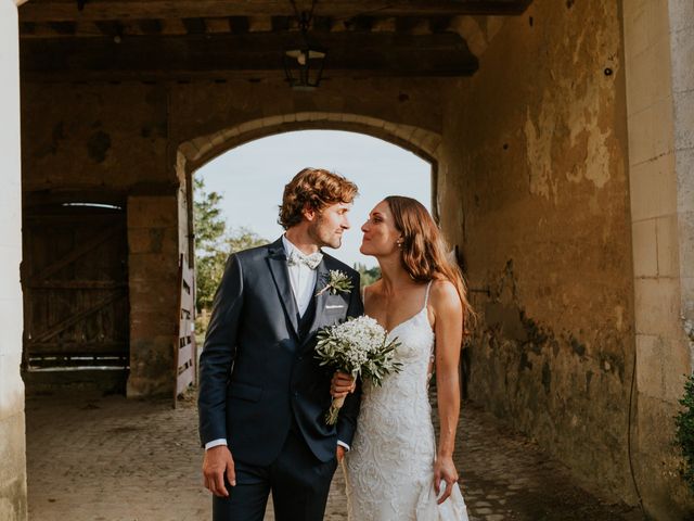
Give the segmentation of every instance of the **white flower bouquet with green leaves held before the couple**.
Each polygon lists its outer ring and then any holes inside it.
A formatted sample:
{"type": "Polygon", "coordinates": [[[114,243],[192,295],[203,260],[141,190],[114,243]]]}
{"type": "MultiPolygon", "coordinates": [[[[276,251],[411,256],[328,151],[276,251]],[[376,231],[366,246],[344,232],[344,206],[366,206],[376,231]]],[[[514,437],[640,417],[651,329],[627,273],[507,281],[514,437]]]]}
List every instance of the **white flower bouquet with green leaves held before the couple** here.
{"type": "MultiPolygon", "coordinates": [[[[386,330],[373,318],[362,315],[319,331],[316,357],[321,366],[381,385],[384,377],[402,368],[394,359],[395,348],[400,345],[397,340],[388,341],[386,330]]],[[[337,422],[344,403],[345,398],[333,398],[325,423],[334,425],[337,422]]]]}

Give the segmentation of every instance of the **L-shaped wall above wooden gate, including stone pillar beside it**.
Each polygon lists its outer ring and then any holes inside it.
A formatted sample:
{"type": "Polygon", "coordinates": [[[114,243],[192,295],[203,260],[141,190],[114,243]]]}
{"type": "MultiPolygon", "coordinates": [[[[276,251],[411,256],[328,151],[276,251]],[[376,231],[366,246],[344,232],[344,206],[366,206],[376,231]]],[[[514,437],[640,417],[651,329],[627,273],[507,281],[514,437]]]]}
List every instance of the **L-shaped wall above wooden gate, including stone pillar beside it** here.
{"type": "Polygon", "coordinates": [[[179,246],[167,91],[140,82],[24,82],[22,93],[24,203],[63,192],[126,207],[128,395],[171,394],[179,246]]]}

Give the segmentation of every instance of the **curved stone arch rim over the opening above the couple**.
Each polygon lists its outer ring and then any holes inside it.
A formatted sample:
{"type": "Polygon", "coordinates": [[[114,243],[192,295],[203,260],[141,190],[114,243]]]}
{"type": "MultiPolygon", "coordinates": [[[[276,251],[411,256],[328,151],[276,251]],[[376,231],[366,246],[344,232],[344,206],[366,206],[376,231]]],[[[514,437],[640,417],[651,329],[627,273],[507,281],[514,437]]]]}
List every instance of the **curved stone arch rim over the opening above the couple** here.
{"type": "Polygon", "coordinates": [[[295,130],[346,130],[372,136],[422,157],[433,165],[433,171],[441,143],[438,132],[412,125],[358,114],[298,112],[252,119],[184,141],[178,147],[177,163],[185,173],[192,173],[235,147],[295,130]]]}

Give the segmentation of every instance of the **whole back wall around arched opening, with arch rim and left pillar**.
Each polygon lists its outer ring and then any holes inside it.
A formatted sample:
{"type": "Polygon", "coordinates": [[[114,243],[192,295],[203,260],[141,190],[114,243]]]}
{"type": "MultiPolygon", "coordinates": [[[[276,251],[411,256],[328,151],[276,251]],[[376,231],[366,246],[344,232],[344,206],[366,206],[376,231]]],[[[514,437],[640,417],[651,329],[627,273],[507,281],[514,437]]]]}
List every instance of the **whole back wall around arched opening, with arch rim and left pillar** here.
{"type": "Polygon", "coordinates": [[[172,392],[177,274],[190,236],[185,181],[194,169],[244,142],[304,128],[363,131],[429,156],[440,144],[445,82],[334,79],[313,93],[281,81],[24,84],[25,202],[69,191],[127,205],[128,394],[172,392]]]}

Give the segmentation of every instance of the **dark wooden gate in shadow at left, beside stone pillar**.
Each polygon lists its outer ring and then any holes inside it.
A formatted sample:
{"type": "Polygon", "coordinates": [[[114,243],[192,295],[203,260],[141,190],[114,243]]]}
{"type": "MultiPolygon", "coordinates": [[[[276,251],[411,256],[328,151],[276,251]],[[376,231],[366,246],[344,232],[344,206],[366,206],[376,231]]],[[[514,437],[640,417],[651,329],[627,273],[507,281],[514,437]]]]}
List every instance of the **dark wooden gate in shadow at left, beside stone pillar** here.
{"type": "Polygon", "coordinates": [[[23,241],[24,370],[127,369],[125,211],[85,203],[25,208],[23,241]]]}

